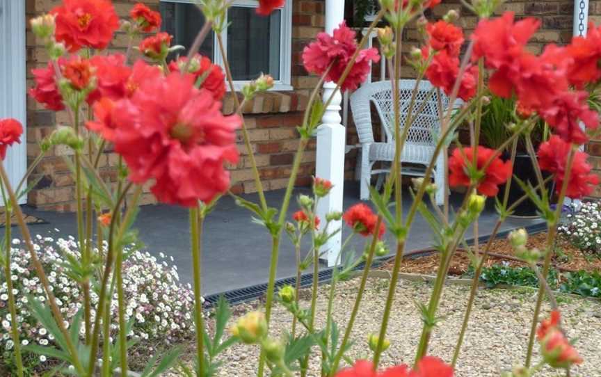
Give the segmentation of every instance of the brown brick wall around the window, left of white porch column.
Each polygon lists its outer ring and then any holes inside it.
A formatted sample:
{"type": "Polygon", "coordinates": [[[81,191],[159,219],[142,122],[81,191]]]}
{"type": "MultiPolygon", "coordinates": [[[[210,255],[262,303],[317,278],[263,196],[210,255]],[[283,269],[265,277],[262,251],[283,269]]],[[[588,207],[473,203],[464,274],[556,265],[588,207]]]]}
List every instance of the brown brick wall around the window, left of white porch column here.
{"type": "MultiPolygon", "coordinates": [[[[26,17],[29,20],[42,13],[47,13],[57,6],[60,0],[27,0],[26,17]]],[[[115,9],[120,17],[125,18],[129,9],[137,0],[113,0],[115,9]]],[[[144,0],[152,8],[158,9],[159,0],[144,0]]],[[[315,86],[316,77],[309,77],[305,72],[300,54],[305,44],[312,40],[319,31],[323,30],[322,1],[294,0],[293,3],[293,28],[292,28],[292,85],[294,91],[269,92],[257,96],[248,102],[243,109],[246,125],[253,143],[257,165],[263,179],[264,189],[282,189],[287,184],[291,172],[292,159],[298,145],[296,126],[302,121],[303,111],[307,104],[307,96],[315,86]]],[[[137,45],[138,41],[134,41],[137,45]]],[[[110,51],[125,53],[127,36],[117,33],[110,51]]],[[[135,58],[136,56],[134,56],[135,58]]],[[[27,23],[27,72],[28,87],[33,86],[32,68],[44,67],[48,56],[36,40],[27,23]]],[[[233,97],[225,98],[223,112],[234,111],[233,97]]],[[[54,130],[56,125],[68,125],[69,118],[66,112],[54,113],[43,109],[31,98],[27,102],[27,155],[31,163],[38,156],[38,143],[54,130]]],[[[241,158],[236,166],[230,166],[232,174],[232,191],[235,193],[250,193],[256,191],[253,174],[250,169],[250,160],[239,135],[239,150],[241,158]]],[[[74,183],[70,168],[65,163],[64,156],[69,153],[65,148],[51,150],[35,169],[32,179],[40,179],[35,189],[29,193],[29,204],[40,209],[56,211],[74,210],[74,183]]],[[[296,184],[310,184],[310,177],[314,174],[315,143],[312,141],[303,154],[296,184]]],[[[118,156],[110,149],[100,159],[101,175],[107,182],[115,182],[115,167],[118,156]]],[[[149,186],[150,187],[150,186],[149,186]]],[[[142,198],[144,204],[154,202],[148,187],[142,198]]]]}

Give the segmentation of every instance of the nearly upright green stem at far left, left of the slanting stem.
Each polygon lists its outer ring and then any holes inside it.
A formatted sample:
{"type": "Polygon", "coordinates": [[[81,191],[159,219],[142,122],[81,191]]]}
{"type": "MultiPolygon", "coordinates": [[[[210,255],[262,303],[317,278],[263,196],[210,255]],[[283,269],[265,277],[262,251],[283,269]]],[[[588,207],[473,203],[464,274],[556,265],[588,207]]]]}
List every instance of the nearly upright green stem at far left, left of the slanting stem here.
{"type": "Polygon", "coordinates": [[[4,224],[4,247],[6,248],[6,255],[4,256],[4,276],[6,277],[6,289],[8,289],[8,310],[10,311],[10,335],[12,335],[13,343],[15,344],[15,363],[17,364],[17,375],[19,377],[23,377],[23,359],[21,357],[21,341],[19,340],[19,326],[17,324],[17,308],[15,307],[15,295],[13,294],[13,279],[10,278],[12,275],[10,273],[10,203],[8,203],[8,200],[6,200],[6,195],[4,195],[3,186],[2,196],[3,198],[5,198],[4,216],[6,216],[6,223],[4,224]]]}

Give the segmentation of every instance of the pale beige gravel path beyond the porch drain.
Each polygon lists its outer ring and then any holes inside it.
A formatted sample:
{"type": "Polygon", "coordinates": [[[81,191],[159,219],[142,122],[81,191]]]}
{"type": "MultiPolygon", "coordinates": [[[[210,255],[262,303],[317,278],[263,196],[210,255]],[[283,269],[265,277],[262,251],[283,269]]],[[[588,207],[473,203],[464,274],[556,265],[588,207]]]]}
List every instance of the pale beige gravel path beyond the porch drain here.
{"type": "MultiPolygon", "coordinates": [[[[335,298],[337,310],[334,319],[340,328],[346,321],[353,306],[359,280],[339,283],[335,298]]],[[[362,307],[355,328],[353,339],[355,344],[349,355],[351,358],[369,357],[367,335],[377,332],[379,327],[388,280],[371,278],[363,296],[362,307]]],[[[326,296],[328,286],[320,287],[318,299],[317,323],[320,328],[325,325],[323,316],[326,313],[326,296]]],[[[414,300],[425,303],[431,291],[431,284],[423,282],[401,281],[396,289],[396,300],[388,329],[391,346],[383,356],[383,364],[412,362],[417,347],[422,321],[414,300]]],[[[463,320],[463,312],[469,294],[469,287],[448,285],[444,291],[439,315],[444,316],[440,326],[435,329],[431,340],[430,354],[450,361],[457,334],[463,320]]],[[[309,307],[305,299],[308,292],[301,294],[301,305],[309,307]]],[[[601,377],[601,303],[598,301],[559,296],[560,309],[563,313],[563,326],[570,339],[576,340],[576,348],[584,363],[572,369],[572,376],[601,377]]],[[[486,289],[479,291],[472,321],[463,346],[463,352],[457,365],[456,376],[499,376],[501,371],[511,369],[514,364],[523,362],[529,332],[536,291],[533,289],[486,289]]],[[[236,307],[236,312],[246,312],[258,303],[250,303],[244,307],[236,307]]],[[[543,314],[547,316],[548,307],[543,314]]],[[[233,319],[235,320],[235,319],[233,319]]],[[[289,330],[291,316],[281,305],[275,305],[272,315],[271,333],[278,336],[282,330],[289,330]]],[[[219,376],[253,376],[256,374],[258,348],[255,346],[237,345],[223,354],[225,364],[218,372],[219,376]]],[[[538,361],[538,345],[536,346],[538,361]]],[[[318,353],[315,351],[314,353],[318,353]]],[[[310,376],[317,376],[319,355],[312,360],[310,376]]],[[[536,376],[564,376],[565,372],[545,369],[536,376]]]]}

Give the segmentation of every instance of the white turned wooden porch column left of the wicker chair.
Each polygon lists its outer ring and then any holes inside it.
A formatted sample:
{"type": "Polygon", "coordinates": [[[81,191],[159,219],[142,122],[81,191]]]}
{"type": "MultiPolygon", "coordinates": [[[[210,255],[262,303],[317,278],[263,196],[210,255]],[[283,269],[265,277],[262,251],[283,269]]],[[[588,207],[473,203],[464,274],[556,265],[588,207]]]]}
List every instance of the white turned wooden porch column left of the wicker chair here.
{"type": "MultiPolygon", "coordinates": [[[[344,0],[326,0],[326,33],[332,33],[344,19],[344,0]]],[[[323,101],[325,102],[334,88],[335,83],[323,85],[323,101]]],[[[342,95],[338,91],[323,114],[323,124],[317,129],[316,177],[330,180],[333,184],[330,195],[319,200],[317,216],[325,223],[328,212],[342,211],[342,194],[344,190],[344,148],[346,145],[346,129],[340,118],[340,102],[342,95]]],[[[332,222],[330,231],[342,226],[341,221],[332,222]]],[[[340,253],[342,234],[333,236],[322,251],[326,251],[328,266],[333,266],[340,253]]]]}

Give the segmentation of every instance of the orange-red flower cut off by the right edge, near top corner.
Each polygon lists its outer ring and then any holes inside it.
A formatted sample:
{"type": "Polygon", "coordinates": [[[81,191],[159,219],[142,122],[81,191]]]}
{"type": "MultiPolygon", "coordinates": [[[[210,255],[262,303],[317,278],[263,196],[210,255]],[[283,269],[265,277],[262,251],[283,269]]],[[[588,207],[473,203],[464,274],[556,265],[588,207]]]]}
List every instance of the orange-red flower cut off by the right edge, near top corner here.
{"type": "Polygon", "coordinates": [[[572,85],[582,88],[586,83],[601,79],[601,27],[589,24],[586,37],[572,38],[566,50],[573,60],[567,73],[572,85]]]}

